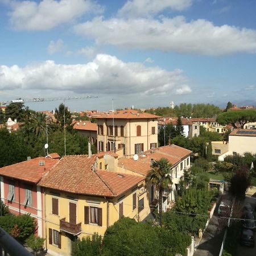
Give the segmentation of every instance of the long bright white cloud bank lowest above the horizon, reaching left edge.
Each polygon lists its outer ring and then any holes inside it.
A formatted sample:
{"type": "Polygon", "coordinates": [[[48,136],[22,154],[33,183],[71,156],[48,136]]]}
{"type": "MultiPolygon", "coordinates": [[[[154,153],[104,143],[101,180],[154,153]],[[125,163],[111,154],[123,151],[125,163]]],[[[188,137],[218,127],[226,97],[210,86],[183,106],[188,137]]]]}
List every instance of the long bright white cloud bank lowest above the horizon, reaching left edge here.
{"type": "Polygon", "coordinates": [[[125,63],[115,56],[97,55],[92,62],[77,65],[48,60],[26,67],[0,66],[0,90],[55,90],[74,93],[169,95],[191,92],[183,71],[125,63]],[[181,89],[180,89],[181,88],[181,89]],[[183,90],[183,91],[181,91],[183,90]]]}

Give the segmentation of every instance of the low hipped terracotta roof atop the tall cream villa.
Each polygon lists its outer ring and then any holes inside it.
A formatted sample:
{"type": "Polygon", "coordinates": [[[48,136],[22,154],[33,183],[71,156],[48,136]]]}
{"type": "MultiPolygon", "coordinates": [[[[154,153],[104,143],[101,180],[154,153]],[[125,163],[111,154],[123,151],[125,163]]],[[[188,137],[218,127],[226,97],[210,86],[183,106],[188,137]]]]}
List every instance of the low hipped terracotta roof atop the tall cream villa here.
{"type": "Polygon", "coordinates": [[[118,119],[142,119],[142,118],[158,118],[158,115],[152,115],[149,113],[140,113],[138,110],[134,109],[125,109],[118,110],[114,112],[104,113],[99,115],[96,118],[118,118],[118,119]]]}

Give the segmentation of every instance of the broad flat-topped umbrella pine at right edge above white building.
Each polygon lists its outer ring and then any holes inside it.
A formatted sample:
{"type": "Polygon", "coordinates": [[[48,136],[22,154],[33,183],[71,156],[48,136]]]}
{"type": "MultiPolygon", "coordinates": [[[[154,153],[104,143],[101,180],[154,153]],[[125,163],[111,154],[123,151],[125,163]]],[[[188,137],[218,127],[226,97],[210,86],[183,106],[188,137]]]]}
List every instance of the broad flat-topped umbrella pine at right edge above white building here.
{"type": "Polygon", "coordinates": [[[226,125],[231,123],[234,129],[237,129],[236,123],[240,123],[241,127],[246,123],[256,121],[256,111],[254,109],[247,110],[232,110],[228,112],[223,112],[217,116],[216,122],[220,125],[226,125]]]}

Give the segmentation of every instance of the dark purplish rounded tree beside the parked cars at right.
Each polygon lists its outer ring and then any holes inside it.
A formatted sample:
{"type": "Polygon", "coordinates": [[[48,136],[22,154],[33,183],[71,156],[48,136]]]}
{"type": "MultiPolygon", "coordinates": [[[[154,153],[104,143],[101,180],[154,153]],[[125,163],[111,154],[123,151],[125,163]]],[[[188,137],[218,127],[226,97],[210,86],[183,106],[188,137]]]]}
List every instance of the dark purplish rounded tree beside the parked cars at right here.
{"type": "Polygon", "coordinates": [[[247,189],[251,185],[250,172],[246,166],[241,167],[230,179],[230,192],[239,198],[245,197],[247,189]]]}

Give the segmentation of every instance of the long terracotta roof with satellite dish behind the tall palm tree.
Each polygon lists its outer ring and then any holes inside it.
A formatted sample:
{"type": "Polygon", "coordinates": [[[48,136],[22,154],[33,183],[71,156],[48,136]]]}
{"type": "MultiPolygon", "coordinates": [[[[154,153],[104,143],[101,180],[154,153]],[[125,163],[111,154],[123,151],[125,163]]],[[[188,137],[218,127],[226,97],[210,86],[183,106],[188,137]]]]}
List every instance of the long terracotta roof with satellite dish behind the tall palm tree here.
{"type": "Polygon", "coordinates": [[[168,146],[155,148],[154,152],[152,153],[150,150],[148,150],[144,152],[144,156],[139,155],[139,159],[137,161],[133,160],[132,158],[121,158],[119,159],[118,166],[146,176],[150,170],[151,159],[160,160],[161,158],[166,158],[169,163],[175,165],[179,163],[181,159],[190,154],[192,154],[192,151],[171,144],[168,146]]]}

